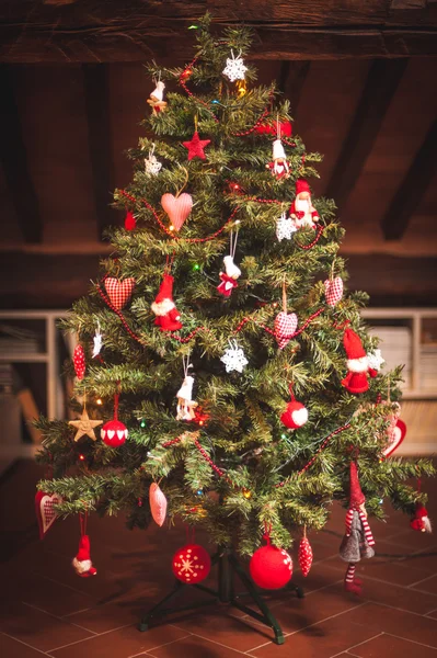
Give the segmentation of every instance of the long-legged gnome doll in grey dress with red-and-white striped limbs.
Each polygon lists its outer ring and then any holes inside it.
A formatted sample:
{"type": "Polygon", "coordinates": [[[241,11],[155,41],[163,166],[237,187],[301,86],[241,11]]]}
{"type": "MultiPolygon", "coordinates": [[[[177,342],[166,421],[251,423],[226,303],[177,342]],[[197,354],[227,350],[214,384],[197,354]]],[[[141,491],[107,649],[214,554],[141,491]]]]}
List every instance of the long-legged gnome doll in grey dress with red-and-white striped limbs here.
{"type": "Polygon", "coordinates": [[[373,557],[373,535],[367,521],[365,508],[366,497],[361,491],[358,480],[358,470],[355,462],[350,462],[350,499],[346,514],[346,533],[340,546],[340,557],[349,563],[344,587],[354,594],[361,593],[361,582],[355,578],[356,564],[363,558],[373,557]]]}

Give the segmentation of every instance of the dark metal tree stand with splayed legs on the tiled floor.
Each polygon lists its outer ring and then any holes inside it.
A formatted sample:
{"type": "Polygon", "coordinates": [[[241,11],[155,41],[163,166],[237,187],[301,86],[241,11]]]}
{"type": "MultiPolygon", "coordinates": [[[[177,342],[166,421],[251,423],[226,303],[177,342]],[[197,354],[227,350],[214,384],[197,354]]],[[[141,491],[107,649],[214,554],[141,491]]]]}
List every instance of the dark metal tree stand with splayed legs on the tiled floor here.
{"type": "MultiPolygon", "coordinates": [[[[267,603],[264,601],[260,590],[255,587],[252,579],[246,575],[240,563],[238,561],[235,555],[227,549],[218,549],[217,553],[211,557],[211,566],[218,565],[218,589],[211,589],[209,587],[205,587],[200,583],[186,585],[181,582],[181,580],[175,580],[174,587],[172,591],[166,594],[157,605],[154,605],[151,610],[145,613],[139,624],[140,631],[148,631],[150,624],[159,617],[163,617],[168,614],[174,612],[183,612],[186,610],[194,610],[196,608],[202,608],[206,604],[211,603],[229,603],[229,605],[233,605],[238,608],[245,614],[249,614],[254,620],[262,622],[266,626],[269,626],[275,633],[274,642],[276,644],[284,644],[285,638],[283,634],[283,629],[279,626],[276,617],[272,614],[267,603]],[[240,581],[245,587],[244,592],[235,592],[234,591],[234,582],[233,576],[237,575],[240,581]],[[177,608],[166,608],[166,603],[175,598],[184,588],[194,587],[202,592],[207,593],[210,599],[204,599],[202,601],[197,601],[195,603],[189,603],[187,605],[182,605],[177,608]],[[248,608],[240,601],[242,597],[250,597],[254,603],[256,603],[260,612],[248,608]]],[[[283,590],[273,590],[275,592],[290,590],[295,591],[298,599],[303,599],[303,590],[292,583],[287,585],[283,590]]],[[[264,593],[268,593],[269,590],[263,590],[264,593]]]]}

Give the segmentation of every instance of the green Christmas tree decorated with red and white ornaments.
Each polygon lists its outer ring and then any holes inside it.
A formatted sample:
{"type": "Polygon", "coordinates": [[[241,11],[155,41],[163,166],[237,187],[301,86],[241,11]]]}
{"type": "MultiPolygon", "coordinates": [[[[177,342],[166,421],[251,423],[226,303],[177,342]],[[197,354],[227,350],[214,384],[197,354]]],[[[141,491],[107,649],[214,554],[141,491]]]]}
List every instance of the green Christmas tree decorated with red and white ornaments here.
{"type": "MultiPolygon", "coordinates": [[[[255,86],[248,30],[217,38],[206,16],[195,34],[189,65],[149,67],[147,136],[114,194],[125,226],[64,322],[80,341],[80,418],[39,421],[53,469],[39,489],[59,515],[123,510],[142,529],[177,517],[243,556],[263,535],[287,549],[306,533],[308,572],[307,536],[334,500],[347,537],[371,540],[384,499],[423,509],[406,480],[433,466],[388,456],[402,368],[381,371],[367,295],[343,290],[344,230],[308,182],[321,156],[274,83],[255,86]]],[[[76,566],[90,575],[88,557],[83,540],[76,566]]]]}

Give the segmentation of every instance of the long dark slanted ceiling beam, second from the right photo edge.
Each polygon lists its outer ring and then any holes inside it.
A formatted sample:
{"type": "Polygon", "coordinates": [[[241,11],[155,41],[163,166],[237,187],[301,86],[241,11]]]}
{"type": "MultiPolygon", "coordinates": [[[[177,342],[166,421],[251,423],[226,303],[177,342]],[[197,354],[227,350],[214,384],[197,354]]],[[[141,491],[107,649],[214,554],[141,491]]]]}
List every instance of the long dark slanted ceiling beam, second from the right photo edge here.
{"type": "Polygon", "coordinates": [[[406,66],[406,59],[377,59],[369,68],[325,193],[335,201],[340,212],[363,171],[406,66]]]}

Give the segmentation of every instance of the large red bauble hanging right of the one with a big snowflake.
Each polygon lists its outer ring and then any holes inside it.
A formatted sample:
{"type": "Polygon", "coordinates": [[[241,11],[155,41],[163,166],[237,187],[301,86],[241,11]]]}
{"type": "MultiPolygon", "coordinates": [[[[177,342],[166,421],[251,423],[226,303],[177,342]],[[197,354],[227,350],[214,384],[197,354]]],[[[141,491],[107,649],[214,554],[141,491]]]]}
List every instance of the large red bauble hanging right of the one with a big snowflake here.
{"type": "Polygon", "coordinates": [[[280,589],[292,576],[292,561],[284,548],[271,544],[252,555],[249,564],[252,580],[263,589],[280,589]]]}

